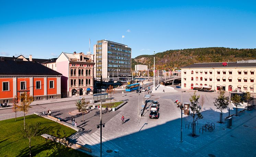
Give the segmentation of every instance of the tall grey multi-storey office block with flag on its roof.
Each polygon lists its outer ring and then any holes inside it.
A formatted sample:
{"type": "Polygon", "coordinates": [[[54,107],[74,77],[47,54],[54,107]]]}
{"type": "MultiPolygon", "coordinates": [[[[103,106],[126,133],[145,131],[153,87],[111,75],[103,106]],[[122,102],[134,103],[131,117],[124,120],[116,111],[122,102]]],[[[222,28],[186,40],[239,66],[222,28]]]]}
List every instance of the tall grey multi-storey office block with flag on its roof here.
{"type": "Polygon", "coordinates": [[[108,40],[98,40],[93,46],[94,78],[104,81],[124,80],[131,76],[131,48],[108,40]]]}

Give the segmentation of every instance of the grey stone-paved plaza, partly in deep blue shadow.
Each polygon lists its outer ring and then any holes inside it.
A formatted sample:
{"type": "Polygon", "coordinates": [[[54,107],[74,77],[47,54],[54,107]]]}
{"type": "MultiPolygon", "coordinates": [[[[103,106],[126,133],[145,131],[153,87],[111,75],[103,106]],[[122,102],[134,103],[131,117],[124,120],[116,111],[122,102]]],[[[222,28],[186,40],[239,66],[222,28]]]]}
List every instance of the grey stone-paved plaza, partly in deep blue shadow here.
{"type": "MultiPolygon", "coordinates": [[[[151,87],[152,88],[152,87],[151,87]]],[[[121,92],[113,95],[113,101],[126,100],[127,104],[117,111],[103,114],[103,156],[108,154],[106,150],[117,149],[120,156],[255,156],[256,155],[256,112],[245,111],[238,117],[233,116],[233,124],[230,129],[219,121],[220,111],[213,105],[218,93],[196,92],[205,98],[203,105],[203,119],[198,120],[196,128],[197,138],[191,137],[191,128],[185,125],[192,121],[191,116],[183,115],[183,142],[181,139],[181,110],[174,103],[175,99],[181,100],[181,90],[177,92],[151,93],[150,100],[159,101],[159,119],[149,119],[150,107],[148,106],[142,117],[138,116],[138,106],[142,109],[143,92],[121,92]],[[122,124],[121,116],[125,117],[122,124]],[[206,122],[214,122],[215,130],[199,133],[199,128],[206,122]]],[[[189,102],[194,90],[185,89],[183,102],[189,102]]],[[[148,94],[148,92],[144,92],[148,94]]],[[[228,94],[226,93],[228,96],[228,94]]],[[[90,99],[90,98],[88,98],[90,99]]],[[[200,99],[199,99],[200,100],[200,99]]],[[[107,101],[108,102],[108,101],[107,101]]],[[[31,112],[47,111],[51,107],[53,116],[61,116],[67,123],[71,123],[69,111],[75,109],[74,101],[56,102],[32,106],[31,112]]],[[[242,110],[240,108],[239,110],[242,110]]],[[[79,122],[84,130],[73,134],[73,141],[86,145],[92,149],[93,156],[100,156],[100,129],[96,125],[100,122],[99,110],[91,109],[85,114],[85,123],[79,122]]],[[[231,106],[233,114],[234,106],[231,106]]],[[[19,116],[22,116],[19,115],[19,116]]],[[[228,116],[228,110],[224,110],[223,117],[228,116]]],[[[0,110],[0,119],[13,118],[11,109],[0,110]]],[[[75,119],[81,121],[81,116],[75,119]]]]}

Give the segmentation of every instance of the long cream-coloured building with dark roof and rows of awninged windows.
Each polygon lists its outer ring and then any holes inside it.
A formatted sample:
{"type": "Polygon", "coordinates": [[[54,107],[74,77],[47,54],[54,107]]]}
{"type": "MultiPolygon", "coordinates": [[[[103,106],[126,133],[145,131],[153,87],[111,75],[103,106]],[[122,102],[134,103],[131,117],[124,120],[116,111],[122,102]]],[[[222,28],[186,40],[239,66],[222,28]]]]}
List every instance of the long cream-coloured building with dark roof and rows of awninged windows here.
{"type": "Polygon", "coordinates": [[[190,89],[198,85],[211,86],[214,90],[240,88],[243,92],[254,92],[256,60],[194,63],[181,69],[182,88],[190,89]]]}

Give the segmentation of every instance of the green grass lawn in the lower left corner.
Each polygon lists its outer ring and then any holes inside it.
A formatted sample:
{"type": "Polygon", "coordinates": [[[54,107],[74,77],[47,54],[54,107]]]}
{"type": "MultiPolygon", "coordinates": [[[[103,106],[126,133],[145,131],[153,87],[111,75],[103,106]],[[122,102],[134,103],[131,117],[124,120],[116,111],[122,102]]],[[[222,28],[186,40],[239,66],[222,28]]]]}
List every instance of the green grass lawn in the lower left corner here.
{"type": "MultiPolygon", "coordinates": [[[[21,125],[23,126],[23,117],[2,120],[0,121],[0,154],[1,156],[29,156],[29,141],[28,138],[24,138],[21,134],[21,125]]],[[[66,136],[70,136],[76,131],[61,125],[57,122],[45,119],[35,114],[26,116],[26,123],[41,122],[40,135],[47,133],[52,135],[57,129],[60,129],[60,134],[63,137],[63,130],[66,132],[66,136]]],[[[47,153],[51,153],[51,145],[46,142],[42,136],[35,136],[31,139],[31,155],[32,156],[47,156],[47,153]]],[[[61,137],[61,138],[62,138],[61,137]]],[[[71,149],[70,151],[77,152],[79,156],[89,156],[85,153],[71,149]]],[[[53,154],[48,156],[54,156],[53,154]]]]}

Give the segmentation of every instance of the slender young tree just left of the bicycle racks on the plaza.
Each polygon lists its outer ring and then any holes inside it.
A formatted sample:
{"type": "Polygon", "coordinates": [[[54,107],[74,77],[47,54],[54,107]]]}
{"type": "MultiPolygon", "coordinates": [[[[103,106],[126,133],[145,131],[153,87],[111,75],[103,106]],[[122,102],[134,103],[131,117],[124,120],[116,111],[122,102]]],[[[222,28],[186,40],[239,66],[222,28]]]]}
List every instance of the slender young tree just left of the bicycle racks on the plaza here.
{"type": "Polygon", "coordinates": [[[190,115],[193,117],[193,123],[192,123],[192,136],[196,135],[196,123],[195,121],[198,119],[202,119],[203,116],[200,113],[200,111],[202,110],[202,108],[199,105],[198,99],[200,98],[200,96],[196,95],[196,92],[194,92],[194,95],[191,96],[190,100],[190,109],[191,109],[191,113],[190,115]]]}

